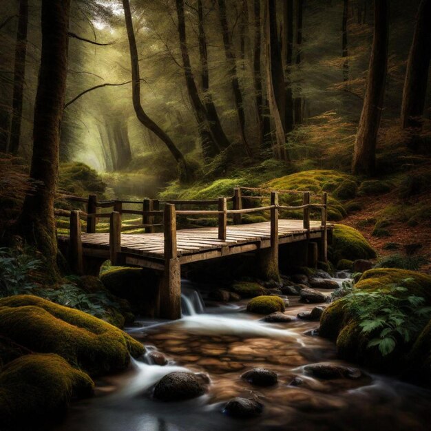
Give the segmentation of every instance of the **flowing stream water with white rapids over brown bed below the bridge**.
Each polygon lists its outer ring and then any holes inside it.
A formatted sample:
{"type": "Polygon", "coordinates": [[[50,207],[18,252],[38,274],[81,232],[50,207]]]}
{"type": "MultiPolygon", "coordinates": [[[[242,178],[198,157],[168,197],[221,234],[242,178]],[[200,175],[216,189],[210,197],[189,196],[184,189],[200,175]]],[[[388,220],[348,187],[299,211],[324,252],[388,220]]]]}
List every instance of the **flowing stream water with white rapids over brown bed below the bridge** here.
{"type": "MultiPolygon", "coordinates": [[[[313,308],[289,299],[288,315],[313,308]]],[[[205,305],[200,293],[185,285],[182,319],[129,328],[146,346],[145,357],[132,360],[121,375],[96,381],[96,397],[73,403],[56,430],[431,430],[431,391],[367,370],[355,380],[310,377],[304,372],[308,364],[351,364],[336,359],[332,342],[310,335],[316,322],[268,324],[244,309],[245,302],[205,305]],[[154,350],[169,359],[165,366],[154,364],[154,350]],[[257,366],[277,372],[277,385],[255,388],[240,378],[257,366]],[[178,403],[151,398],[164,375],[185,370],[208,376],[206,395],[178,403]],[[293,384],[295,377],[301,386],[293,384]],[[255,419],[231,419],[222,410],[232,397],[259,399],[264,412],[255,419]]]]}

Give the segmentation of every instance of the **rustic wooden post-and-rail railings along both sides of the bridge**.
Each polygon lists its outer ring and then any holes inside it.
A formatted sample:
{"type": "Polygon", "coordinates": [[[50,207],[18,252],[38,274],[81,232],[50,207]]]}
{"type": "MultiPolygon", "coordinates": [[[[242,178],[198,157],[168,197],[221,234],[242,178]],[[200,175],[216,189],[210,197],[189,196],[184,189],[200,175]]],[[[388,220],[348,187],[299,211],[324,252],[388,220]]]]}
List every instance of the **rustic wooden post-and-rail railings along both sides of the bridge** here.
{"type": "MultiPolygon", "coordinates": [[[[109,218],[109,255],[113,264],[120,262],[121,254],[121,230],[122,230],[122,215],[140,215],[143,223],[140,226],[145,227],[145,231],[152,233],[158,226],[163,227],[164,236],[164,251],[165,259],[173,259],[177,256],[176,247],[176,225],[178,215],[200,215],[213,216],[218,219],[218,239],[220,241],[227,240],[227,220],[232,219],[233,224],[240,224],[244,214],[257,213],[262,211],[270,212],[271,224],[271,244],[278,241],[278,220],[279,211],[300,211],[302,210],[303,229],[306,231],[306,237],[310,238],[311,233],[311,210],[320,209],[322,211],[321,227],[323,228],[323,243],[326,255],[327,243],[327,213],[328,213],[328,197],[326,193],[322,195],[312,195],[310,191],[273,191],[268,189],[257,189],[250,187],[235,188],[232,197],[220,197],[217,200],[151,200],[143,201],[132,200],[109,200],[98,202],[95,195],[90,195],[87,201],[87,213],[82,211],[70,211],[70,250],[72,254],[82,255],[81,244],[81,218],[87,220],[87,233],[96,232],[96,220],[99,218],[109,218]],[[243,196],[244,191],[270,191],[270,195],[266,196],[243,196]],[[302,196],[302,204],[299,205],[283,205],[279,203],[280,194],[293,194],[302,196]],[[311,203],[311,197],[318,197],[320,203],[311,203]],[[252,198],[252,200],[264,200],[269,198],[269,204],[259,207],[243,208],[244,199],[252,198]],[[228,202],[233,202],[232,209],[228,209],[228,202]],[[164,204],[163,211],[160,210],[160,203],[164,204]],[[125,209],[123,204],[140,204],[142,210],[125,209]],[[218,208],[211,209],[178,209],[182,205],[196,205],[208,207],[217,204],[218,208]],[[112,211],[98,213],[98,209],[112,208],[112,211]],[[156,223],[155,220],[160,219],[156,223]]],[[[79,202],[83,202],[83,198],[79,198],[79,202]]],[[[59,215],[66,215],[68,211],[56,210],[59,215]]],[[[82,260],[82,259],[81,259],[82,260]]],[[[82,265],[82,263],[81,263],[82,265]]],[[[79,269],[80,264],[76,263],[76,269],[79,269]]]]}

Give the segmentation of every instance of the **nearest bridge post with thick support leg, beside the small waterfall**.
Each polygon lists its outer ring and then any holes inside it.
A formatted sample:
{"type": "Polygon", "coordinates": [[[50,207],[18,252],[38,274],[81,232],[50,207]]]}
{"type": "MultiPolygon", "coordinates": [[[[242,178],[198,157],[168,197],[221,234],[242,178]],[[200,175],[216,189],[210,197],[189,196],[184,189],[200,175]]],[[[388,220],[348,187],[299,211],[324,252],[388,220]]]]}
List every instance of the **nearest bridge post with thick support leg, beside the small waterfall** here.
{"type": "Polygon", "coordinates": [[[176,211],[174,204],[165,204],[163,214],[165,236],[165,271],[160,280],[160,317],[181,317],[181,265],[176,246],[176,211]]]}

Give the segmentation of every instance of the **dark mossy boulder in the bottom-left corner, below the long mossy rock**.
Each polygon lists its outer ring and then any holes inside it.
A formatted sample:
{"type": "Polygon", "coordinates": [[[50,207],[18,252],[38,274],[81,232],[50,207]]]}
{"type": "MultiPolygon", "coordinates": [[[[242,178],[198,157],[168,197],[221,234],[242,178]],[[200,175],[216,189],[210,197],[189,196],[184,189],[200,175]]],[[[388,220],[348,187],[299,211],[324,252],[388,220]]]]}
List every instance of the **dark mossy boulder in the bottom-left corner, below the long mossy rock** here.
{"type": "Polygon", "coordinates": [[[72,398],[92,395],[94,383],[58,355],[25,355],[0,372],[2,429],[33,429],[59,419],[72,398]]]}

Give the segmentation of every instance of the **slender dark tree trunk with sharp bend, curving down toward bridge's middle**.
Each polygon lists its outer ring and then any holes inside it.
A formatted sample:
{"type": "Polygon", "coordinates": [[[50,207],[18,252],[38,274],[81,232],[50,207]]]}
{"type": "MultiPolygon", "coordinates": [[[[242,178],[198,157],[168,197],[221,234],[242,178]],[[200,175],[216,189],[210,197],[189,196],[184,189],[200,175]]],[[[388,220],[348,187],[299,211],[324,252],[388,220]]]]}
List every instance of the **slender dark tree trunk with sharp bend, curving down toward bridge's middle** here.
{"type": "Polygon", "coordinates": [[[187,169],[187,163],[181,151],[176,147],[174,142],[169,138],[167,133],[163,131],[156,123],[154,123],[142,107],[140,102],[140,74],[139,74],[139,62],[138,62],[138,49],[136,48],[136,39],[133,29],[132,13],[130,12],[129,0],[123,0],[124,17],[127,29],[127,38],[129,39],[129,51],[130,51],[130,63],[132,64],[132,100],[133,107],[135,109],[136,117],[145,127],[151,130],[163,143],[167,146],[172,156],[174,156],[180,169],[185,174],[187,179],[189,172],[187,169]]]}

